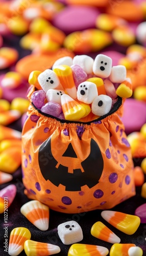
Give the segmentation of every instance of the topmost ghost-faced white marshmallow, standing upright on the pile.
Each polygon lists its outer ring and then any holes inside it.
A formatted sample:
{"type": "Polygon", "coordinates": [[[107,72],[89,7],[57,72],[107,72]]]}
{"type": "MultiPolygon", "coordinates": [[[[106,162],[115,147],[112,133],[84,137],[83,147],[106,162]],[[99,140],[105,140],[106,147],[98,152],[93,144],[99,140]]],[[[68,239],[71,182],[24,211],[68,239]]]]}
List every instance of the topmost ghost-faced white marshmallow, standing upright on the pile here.
{"type": "Polygon", "coordinates": [[[93,63],[93,73],[101,78],[107,78],[111,73],[112,59],[104,54],[98,54],[93,63]]]}

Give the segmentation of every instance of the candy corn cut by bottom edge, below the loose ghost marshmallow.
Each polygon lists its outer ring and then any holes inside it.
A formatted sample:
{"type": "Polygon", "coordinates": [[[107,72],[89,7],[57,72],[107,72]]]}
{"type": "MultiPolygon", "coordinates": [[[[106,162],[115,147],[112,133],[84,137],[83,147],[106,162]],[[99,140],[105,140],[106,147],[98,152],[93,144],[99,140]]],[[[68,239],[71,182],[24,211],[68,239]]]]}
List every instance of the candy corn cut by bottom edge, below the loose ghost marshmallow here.
{"type": "Polygon", "coordinates": [[[68,256],[106,256],[109,250],[106,247],[90,244],[72,244],[68,256]]]}

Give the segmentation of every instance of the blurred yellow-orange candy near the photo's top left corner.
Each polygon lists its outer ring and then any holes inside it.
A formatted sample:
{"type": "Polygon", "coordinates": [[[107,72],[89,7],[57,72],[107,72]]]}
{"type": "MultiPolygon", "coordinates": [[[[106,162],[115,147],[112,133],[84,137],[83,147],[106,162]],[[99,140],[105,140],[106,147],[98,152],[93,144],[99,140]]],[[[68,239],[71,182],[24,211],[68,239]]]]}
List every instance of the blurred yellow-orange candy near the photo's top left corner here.
{"type": "Polygon", "coordinates": [[[21,16],[12,17],[8,20],[7,26],[15,35],[24,35],[29,30],[29,23],[21,16]]]}

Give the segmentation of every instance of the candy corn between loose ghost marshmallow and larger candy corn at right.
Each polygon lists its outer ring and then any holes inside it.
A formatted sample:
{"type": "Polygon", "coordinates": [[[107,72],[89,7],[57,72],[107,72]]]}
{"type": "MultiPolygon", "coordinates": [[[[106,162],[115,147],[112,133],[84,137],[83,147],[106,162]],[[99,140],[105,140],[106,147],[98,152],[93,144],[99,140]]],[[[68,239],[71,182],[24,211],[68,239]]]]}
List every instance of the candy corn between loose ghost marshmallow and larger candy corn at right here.
{"type": "Polygon", "coordinates": [[[101,239],[103,241],[115,244],[120,243],[120,238],[116,236],[108,227],[102,222],[98,221],[91,227],[91,234],[93,237],[101,239]]]}

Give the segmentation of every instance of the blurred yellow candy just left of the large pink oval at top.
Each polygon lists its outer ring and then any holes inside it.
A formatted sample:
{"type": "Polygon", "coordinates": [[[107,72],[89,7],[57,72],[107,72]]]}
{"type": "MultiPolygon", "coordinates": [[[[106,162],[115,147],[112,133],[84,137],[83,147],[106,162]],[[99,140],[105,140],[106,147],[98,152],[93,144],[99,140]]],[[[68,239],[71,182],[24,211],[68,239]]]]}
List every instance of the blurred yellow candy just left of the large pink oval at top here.
{"type": "Polygon", "coordinates": [[[49,26],[51,26],[51,23],[48,22],[48,20],[38,17],[32,20],[32,23],[30,25],[30,32],[42,34],[49,26]]]}

